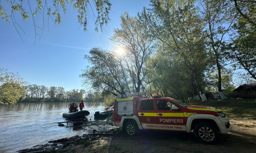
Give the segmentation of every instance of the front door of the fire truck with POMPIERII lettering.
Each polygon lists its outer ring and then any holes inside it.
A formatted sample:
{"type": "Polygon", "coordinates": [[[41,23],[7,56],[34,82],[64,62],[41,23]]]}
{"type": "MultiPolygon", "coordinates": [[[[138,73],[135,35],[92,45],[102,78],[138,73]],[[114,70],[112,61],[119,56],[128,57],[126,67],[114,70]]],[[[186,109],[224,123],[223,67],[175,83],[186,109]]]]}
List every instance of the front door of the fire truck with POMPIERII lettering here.
{"type": "Polygon", "coordinates": [[[159,130],[186,131],[183,111],[168,100],[155,100],[159,130]]]}

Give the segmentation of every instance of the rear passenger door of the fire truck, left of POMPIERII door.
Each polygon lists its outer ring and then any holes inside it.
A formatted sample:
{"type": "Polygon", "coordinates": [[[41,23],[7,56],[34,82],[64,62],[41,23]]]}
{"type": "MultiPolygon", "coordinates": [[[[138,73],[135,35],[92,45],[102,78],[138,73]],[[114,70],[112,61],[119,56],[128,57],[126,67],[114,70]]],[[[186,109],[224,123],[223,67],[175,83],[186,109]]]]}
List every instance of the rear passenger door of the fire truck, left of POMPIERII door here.
{"type": "Polygon", "coordinates": [[[153,100],[139,100],[138,116],[143,129],[159,129],[157,109],[153,100]]]}

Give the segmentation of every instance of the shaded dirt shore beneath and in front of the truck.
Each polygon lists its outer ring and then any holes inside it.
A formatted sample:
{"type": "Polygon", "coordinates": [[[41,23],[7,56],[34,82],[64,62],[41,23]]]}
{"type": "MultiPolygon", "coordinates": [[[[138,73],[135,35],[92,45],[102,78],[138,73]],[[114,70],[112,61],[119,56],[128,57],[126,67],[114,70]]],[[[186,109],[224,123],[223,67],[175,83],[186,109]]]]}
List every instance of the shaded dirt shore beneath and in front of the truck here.
{"type": "Polygon", "coordinates": [[[193,134],[143,131],[126,136],[120,130],[74,136],[18,152],[255,152],[256,120],[231,119],[232,131],[214,145],[199,143],[193,134]]]}

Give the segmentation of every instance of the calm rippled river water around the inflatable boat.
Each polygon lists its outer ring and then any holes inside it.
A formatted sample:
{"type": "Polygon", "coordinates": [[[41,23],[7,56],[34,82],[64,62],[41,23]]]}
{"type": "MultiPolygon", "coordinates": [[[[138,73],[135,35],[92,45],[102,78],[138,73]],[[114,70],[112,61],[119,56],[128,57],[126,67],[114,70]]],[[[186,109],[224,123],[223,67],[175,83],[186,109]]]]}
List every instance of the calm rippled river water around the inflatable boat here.
{"type": "MultiPolygon", "coordinates": [[[[69,103],[66,102],[0,105],[0,152],[15,152],[50,140],[90,134],[92,129],[99,128],[90,126],[73,129],[72,122],[80,120],[62,117],[62,113],[68,112],[68,106],[69,103]],[[62,121],[70,122],[68,125],[64,123],[65,126],[58,126],[57,122],[62,121]]],[[[104,111],[102,103],[95,106],[86,102],[84,107],[83,110],[90,112],[87,118],[92,120],[96,111],[104,111]]]]}

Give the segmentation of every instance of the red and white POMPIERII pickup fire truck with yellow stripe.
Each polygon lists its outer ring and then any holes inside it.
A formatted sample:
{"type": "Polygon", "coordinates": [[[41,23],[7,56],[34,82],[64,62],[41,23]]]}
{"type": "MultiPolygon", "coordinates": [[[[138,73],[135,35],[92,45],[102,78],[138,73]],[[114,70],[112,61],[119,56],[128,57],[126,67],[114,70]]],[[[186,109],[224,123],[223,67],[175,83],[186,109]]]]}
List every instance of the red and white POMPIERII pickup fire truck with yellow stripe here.
{"type": "Polygon", "coordinates": [[[215,143],[231,130],[229,119],[214,107],[186,105],[170,97],[145,98],[159,90],[118,96],[114,103],[114,125],[128,135],[139,130],[193,132],[203,143],[215,143]]]}

